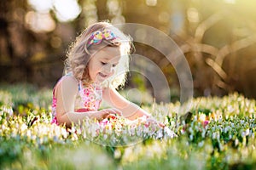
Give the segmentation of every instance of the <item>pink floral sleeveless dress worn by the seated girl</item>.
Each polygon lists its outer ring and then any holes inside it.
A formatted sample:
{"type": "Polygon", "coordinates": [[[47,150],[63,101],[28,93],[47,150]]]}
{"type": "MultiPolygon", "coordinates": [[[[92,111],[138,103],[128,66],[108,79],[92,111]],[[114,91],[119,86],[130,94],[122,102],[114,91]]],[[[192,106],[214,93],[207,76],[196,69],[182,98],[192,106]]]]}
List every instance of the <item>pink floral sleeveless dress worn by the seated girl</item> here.
{"type": "MultiPolygon", "coordinates": [[[[67,74],[66,76],[72,76],[72,75],[67,74]]],[[[85,86],[81,81],[78,81],[78,86],[79,86],[79,91],[75,99],[74,111],[76,112],[97,111],[102,102],[102,86],[97,83],[92,83],[90,85],[85,86]]],[[[57,99],[55,98],[55,88],[54,88],[53,100],[52,100],[52,117],[53,118],[51,123],[58,124],[58,121],[56,118],[56,104],[57,104],[57,99]]]]}

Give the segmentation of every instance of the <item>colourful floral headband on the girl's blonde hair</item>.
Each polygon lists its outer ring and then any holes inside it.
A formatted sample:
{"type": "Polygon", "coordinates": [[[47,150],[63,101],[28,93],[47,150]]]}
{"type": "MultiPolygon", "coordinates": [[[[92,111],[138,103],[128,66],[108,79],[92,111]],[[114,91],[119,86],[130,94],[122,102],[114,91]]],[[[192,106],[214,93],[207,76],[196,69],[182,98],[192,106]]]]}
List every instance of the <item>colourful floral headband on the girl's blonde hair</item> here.
{"type": "Polygon", "coordinates": [[[90,40],[88,42],[88,46],[91,44],[99,44],[103,39],[105,40],[114,40],[117,37],[113,34],[113,31],[108,29],[104,29],[103,31],[95,31],[90,35],[90,40]]]}

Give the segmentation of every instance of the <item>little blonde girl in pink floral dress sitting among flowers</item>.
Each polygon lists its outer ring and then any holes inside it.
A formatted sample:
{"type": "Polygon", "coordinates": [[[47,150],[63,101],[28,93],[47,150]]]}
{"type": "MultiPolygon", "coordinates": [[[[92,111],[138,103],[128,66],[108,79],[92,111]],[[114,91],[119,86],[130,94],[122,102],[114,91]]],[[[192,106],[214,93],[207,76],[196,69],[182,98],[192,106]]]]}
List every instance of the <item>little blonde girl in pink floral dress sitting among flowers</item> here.
{"type": "Polygon", "coordinates": [[[130,120],[148,117],[116,91],[125,83],[131,49],[131,38],[108,22],[85,29],[69,48],[67,74],[53,90],[52,123],[71,126],[86,117],[101,121],[113,114],[130,120]],[[98,111],[102,99],[113,108],[98,111]]]}

